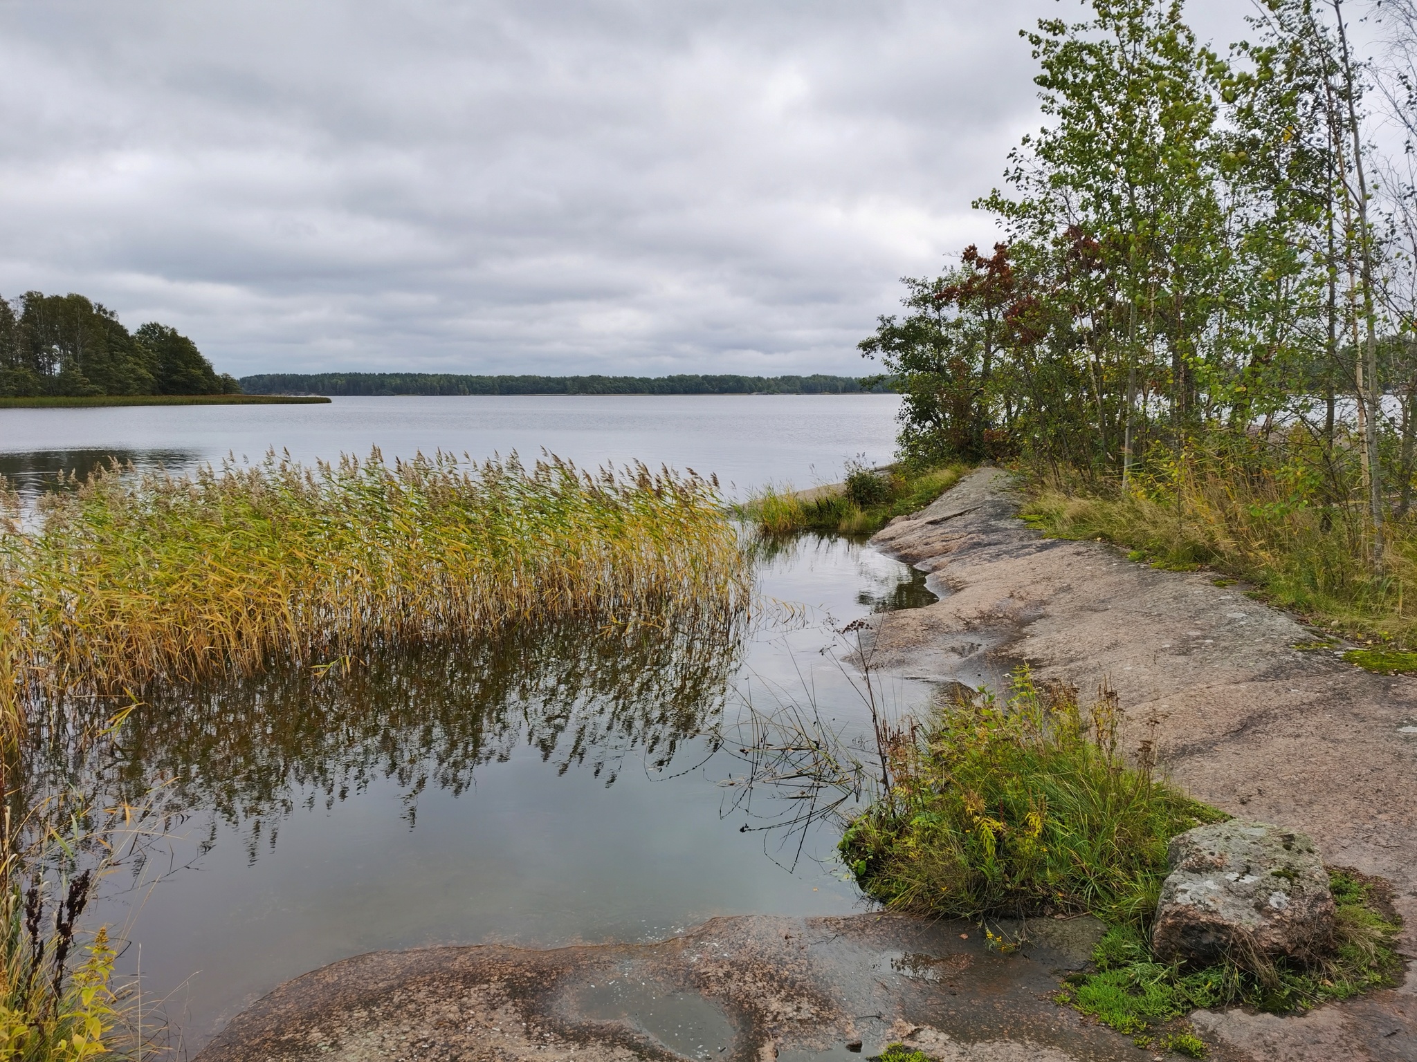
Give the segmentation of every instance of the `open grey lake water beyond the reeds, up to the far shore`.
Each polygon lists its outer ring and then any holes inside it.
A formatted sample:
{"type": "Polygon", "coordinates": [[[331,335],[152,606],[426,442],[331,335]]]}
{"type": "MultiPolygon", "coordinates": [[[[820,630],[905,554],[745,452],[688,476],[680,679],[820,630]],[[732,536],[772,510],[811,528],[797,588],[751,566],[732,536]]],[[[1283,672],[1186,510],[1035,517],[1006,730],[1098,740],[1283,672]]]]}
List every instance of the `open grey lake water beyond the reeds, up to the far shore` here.
{"type": "Polygon", "coordinates": [[[733,494],[768,481],[835,483],[864,455],[890,459],[898,395],[608,395],[336,398],[329,405],[0,409],[0,473],[37,486],[109,455],[186,470],[227,453],[259,459],[411,457],[444,449],[473,457],[543,447],[577,462],[645,460],[714,473],[733,494]]]}

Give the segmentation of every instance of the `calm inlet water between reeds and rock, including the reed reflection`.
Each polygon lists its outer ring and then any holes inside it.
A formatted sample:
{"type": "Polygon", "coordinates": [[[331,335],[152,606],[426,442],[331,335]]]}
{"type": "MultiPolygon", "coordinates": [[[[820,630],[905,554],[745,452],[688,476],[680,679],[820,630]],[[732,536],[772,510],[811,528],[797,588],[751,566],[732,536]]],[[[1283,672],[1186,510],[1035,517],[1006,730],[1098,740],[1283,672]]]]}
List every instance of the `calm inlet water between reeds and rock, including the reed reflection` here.
{"type": "MultiPolygon", "coordinates": [[[[169,823],[94,912],[132,942],[120,971],[140,944],[194,1049],[281,981],[363,952],[859,909],[835,827],[786,858],[755,828],[772,797],[734,804],[721,783],[741,759],[720,733],[748,698],[811,700],[866,733],[837,632],[932,595],[845,539],[803,537],[757,572],[788,607],[731,632],[526,627],[149,695],[86,765],[105,803],[162,786],[169,823]]],[[[904,677],[891,691],[928,697],[904,677]]]]}

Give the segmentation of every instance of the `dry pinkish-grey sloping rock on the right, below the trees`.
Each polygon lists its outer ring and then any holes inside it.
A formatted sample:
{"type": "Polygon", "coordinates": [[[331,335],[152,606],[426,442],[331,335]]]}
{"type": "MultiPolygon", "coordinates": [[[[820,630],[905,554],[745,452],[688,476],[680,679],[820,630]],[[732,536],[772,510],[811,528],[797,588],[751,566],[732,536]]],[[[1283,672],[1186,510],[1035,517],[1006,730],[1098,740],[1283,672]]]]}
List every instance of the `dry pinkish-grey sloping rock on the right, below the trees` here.
{"type": "MultiPolygon", "coordinates": [[[[1399,946],[1417,953],[1417,677],[1356,668],[1342,646],[1299,649],[1311,630],[1213,572],[1043,538],[1020,504],[1005,472],[981,469],[876,537],[942,599],[883,616],[873,664],[976,685],[1027,663],[1084,694],[1110,681],[1128,748],[1152,741],[1192,796],[1304,831],[1328,862],[1390,881],[1399,946]]],[[[1417,1062],[1414,981],[1305,1015],[1195,1024],[1226,1062],[1417,1062]]]]}

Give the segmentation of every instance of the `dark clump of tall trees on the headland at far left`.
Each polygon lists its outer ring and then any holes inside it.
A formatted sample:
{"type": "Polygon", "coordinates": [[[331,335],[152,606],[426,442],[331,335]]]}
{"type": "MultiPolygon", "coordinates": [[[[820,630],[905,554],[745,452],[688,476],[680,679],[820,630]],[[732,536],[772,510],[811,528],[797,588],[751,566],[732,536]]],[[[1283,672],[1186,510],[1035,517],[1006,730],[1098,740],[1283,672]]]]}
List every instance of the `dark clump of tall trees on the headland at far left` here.
{"type": "Polygon", "coordinates": [[[26,292],[0,299],[0,396],[225,395],[197,344],[166,324],[129,331],[82,295],[26,292]]]}

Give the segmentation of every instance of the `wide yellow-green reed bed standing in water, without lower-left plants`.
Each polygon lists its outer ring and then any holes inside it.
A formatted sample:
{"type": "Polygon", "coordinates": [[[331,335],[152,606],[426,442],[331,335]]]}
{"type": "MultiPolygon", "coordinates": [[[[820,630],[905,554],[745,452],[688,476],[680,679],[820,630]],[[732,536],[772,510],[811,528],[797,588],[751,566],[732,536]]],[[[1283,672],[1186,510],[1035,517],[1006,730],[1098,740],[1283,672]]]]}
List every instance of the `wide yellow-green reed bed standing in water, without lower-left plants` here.
{"type": "Polygon", "coordinates": [[[0,680],[26,704],[319,664],[523,622],[730,622],[747,559],[717,481],[445,453],[191,477],[101,472],[0,532],[0,680]]]}

